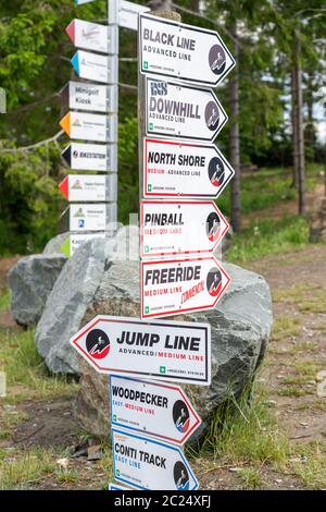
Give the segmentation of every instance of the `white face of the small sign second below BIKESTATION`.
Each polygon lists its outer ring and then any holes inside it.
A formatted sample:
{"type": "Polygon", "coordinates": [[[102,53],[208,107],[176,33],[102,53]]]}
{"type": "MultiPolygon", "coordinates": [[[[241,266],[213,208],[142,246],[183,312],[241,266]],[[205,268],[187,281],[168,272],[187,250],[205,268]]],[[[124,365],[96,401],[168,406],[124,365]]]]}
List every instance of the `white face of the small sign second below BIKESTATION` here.
{"type": "Polygon", "coordinates": [[[70,206],[70,231],[104,231],[105,221],[105,204],[70,206]]]}

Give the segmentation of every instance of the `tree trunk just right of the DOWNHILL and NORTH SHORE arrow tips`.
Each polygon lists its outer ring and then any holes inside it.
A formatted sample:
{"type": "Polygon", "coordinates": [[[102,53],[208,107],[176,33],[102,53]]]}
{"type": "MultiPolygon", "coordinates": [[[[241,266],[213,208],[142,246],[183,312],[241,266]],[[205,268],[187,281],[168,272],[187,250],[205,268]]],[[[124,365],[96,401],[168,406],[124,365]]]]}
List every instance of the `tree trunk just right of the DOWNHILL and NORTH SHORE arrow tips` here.
{"type": "Polygon", "coordinates": [[[235,170],[231,180],[231,225],[235,232],[241,230],[241,197],[240,197],[240,134],[239,134],[239,42],[237,22],[231,26],[234,36],[234,57],[237,62],[230,75],[230,163],[235,170]]]}

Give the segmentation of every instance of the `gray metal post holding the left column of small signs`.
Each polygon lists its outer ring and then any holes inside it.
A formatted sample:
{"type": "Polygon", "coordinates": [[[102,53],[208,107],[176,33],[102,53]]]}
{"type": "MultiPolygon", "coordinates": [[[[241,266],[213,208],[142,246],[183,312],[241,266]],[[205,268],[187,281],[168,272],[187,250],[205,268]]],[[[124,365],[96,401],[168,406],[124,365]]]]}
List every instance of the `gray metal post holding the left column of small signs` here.
{"type": "MultiPolygon", "coordinates": [[[[113,86],[113,94],[111,95],[112,100],[112,112],[110,115],[114,117],[114,122],[110,123],[112,130],[109,134],[110,139],[113,141],[110,148],[110,172],[117,173],[117,138],[118,138],[118,2],[120,0],[108,0],[108,25],[110,27],[109,37],[110,37],[110,57],[109,60],[112,63],[112,69],[110,76],[110,83],[113,86]]],[[[113,180],[108,180],[110,184],[113,184],[113,180]]],[[[106,229],[111,224],[111,229],[108,230],[106,236],[111,236],[112,233],[112,223],[116,225],[117,223],[117,180],[115,181],[116,191],[113,194],[113,191],[106,188],[106,199],[115,197],[106,207],[106,229]]],[[[114,228],[114,231],[116,229],[114,228]]]]}

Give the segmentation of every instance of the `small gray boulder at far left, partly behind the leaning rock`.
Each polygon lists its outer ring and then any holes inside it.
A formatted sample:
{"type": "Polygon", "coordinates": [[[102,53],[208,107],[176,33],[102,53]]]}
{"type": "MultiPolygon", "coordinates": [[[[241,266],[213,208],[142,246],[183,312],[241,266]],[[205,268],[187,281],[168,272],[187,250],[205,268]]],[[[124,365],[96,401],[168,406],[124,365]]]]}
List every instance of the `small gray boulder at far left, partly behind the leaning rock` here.
{"type": "Polygon", "coordinates": [[[40,254],[20,259],[10,270],[11,313],[21,326],[36,326],[64,266],[64,255],[40,254]]]}

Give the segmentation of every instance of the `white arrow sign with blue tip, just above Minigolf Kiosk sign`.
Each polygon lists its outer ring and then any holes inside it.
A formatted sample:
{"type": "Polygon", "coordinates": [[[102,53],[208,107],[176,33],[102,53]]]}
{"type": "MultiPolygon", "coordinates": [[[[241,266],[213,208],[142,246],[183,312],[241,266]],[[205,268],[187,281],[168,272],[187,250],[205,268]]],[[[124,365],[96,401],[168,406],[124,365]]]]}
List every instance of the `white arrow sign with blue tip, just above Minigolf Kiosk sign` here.
{"type": "Polygon", "coordinates": [[[111,57],[78,50],[72,58],[72,64],[80,78],[114,83],[113,61],[111,57]]]}

